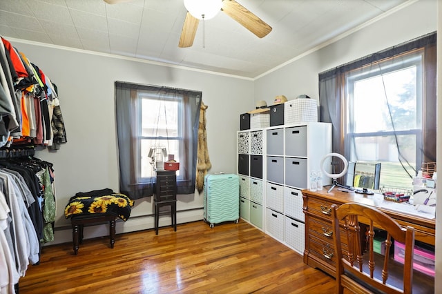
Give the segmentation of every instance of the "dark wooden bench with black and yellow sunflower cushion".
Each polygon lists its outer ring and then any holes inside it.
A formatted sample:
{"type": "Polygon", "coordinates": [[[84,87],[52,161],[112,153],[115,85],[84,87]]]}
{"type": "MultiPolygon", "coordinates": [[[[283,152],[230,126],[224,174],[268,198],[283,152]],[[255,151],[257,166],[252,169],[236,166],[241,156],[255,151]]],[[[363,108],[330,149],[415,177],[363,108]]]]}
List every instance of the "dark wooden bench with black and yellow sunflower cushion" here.
{"type": "Polygon", "coordinates": [[[126,222],[131,215],[133,200],[124,194],[114,193],[111,189],[79,192],[69,199],[64,215],[70,218],[73,229],[73,249],[78,253],[83,242],[84,225],[96,225],[109,222],[111,248],[115,244],[115,220],[126,222]]]}

